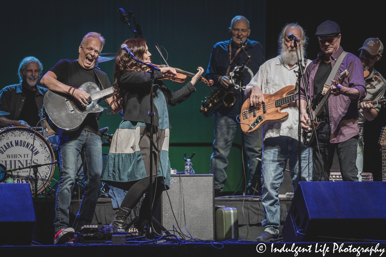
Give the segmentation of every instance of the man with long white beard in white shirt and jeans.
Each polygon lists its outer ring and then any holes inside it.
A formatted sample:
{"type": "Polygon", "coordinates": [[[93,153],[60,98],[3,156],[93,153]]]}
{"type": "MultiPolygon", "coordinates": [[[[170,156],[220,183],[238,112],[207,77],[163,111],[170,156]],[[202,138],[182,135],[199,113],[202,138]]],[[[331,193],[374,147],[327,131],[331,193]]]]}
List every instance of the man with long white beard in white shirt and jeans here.
{"type": "MultiPolygon", "coordinates": [[[[245,96],[251,106],[259,107],[264,103],[263,94],[273,94],[279,89],[289,85],[298,84],[294,69],[297,62],[293,40],[287,37],[292,32],[300,40],[299,50],[301,58],[305,55],[307,43],[305,32],[297,23],[286,24],[279,37],[279,55],[267,60],[260,66],[259,72],[247,85],[245,96]]],[[[311,60],[304,59],[305,65],[311,60]]],[[[304,65],[304,63],[303,63],[304,65]]],[[[298,88],[298,85],[296,85],[298,88]]],[[[269,242],[277,238],[280,225],[279,187],[283,182],[284,171],[289,159],[289,170],[294,192],[298,186],[298,108],[295,102],[290,102],[288,117],[283,121],[268,122],[262,126],[263,152],[262,152],[262,205],[265,219],[261,222],[264,233],[257,237],[257,241],[269,242]]],[[[301,146],[301,181],[312,179],[312,150],[301,146]]]]}

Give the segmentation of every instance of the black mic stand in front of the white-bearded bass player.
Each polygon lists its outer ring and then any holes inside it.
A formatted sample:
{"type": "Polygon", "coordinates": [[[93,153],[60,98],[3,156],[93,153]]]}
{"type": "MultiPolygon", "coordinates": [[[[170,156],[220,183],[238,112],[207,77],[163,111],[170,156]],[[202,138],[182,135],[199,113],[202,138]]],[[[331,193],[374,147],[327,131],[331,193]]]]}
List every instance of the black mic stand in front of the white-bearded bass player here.
{"type": "MultiPolygon", "coordinates": [[[[300,60],[299,53],[298,53],[298,45],[296,43],[296,40],[293,40],[293,45],[296,50],[296,56],[298,57],[298,66],[299,66],[299,71],[294,71],[295,73],[298,73],[296,77],[300,76],[300,80],[303,80],[303,85],[304,85],[304,92],[306,99],[308,99],[308,94],[307,90],[304,84],[304,74],[303,74],[303,61],[300,60]]],[[[299,87],[298,87],[298,112],[299,112],[299,121],[298,121],[298,151],[299,151],[299,156],[298,156],[298,167],[299,167],[299,173],[298,173],[298,182],[301,181],[301,123],[300,123],[300,118],[301,118],[301,113],[300,113],[300,80],[299,80],[299,87]]],[[[312,113],[311,113],[311,107],[310,107],[310,102],[306,101],[308,105],[308,111],[310,111],[310,120],[311,122],[313,121],[312,113]]],[[[308,164],[309,165],[309,164],[308,164]]]]}

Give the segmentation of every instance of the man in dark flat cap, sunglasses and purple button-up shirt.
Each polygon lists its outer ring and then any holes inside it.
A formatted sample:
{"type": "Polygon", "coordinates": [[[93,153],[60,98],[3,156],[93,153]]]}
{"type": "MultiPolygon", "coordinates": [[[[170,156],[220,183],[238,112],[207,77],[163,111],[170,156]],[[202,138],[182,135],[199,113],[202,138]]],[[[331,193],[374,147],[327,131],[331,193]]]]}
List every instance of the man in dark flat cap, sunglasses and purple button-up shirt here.
{"type": "MultiPolygon", "coordinates": [[[[305,90],[310,101],[322,92],[323,86],[335,81],[347,69],[348,76],[337,86],[331,85],[332,95],[324,105],[318,119],[324,121],[315,130],[316,139],[311,143],[313,149],[312,181],[328,181],[335,150],[337,151],[343,181],[358,181],[356,166],[359,138],[358,107],[359,100],[366,96],[361,60],[354,54],[344,52],[340,46],[340,27],[327,20],[319,25],[315,35],[322,52],[306,68],[300,83],[301,126],[308,129],[310,121],[306,110],[305,90]],[[340,63],[340,65],[339,65],[340,63]],[[335,64],[339,65],[335,67],[335,64]],[[337,71],[334,71],[337,69],[337,71]],[[333,77],[329,79],[330,73],[333,77]],[[327,81],[328,80],[328,81],[327,81]]],[[[331,77],[330,77],[331,78],[331,77]]],[[[311,126],[313,126],[311,124],[311,126]]]]}

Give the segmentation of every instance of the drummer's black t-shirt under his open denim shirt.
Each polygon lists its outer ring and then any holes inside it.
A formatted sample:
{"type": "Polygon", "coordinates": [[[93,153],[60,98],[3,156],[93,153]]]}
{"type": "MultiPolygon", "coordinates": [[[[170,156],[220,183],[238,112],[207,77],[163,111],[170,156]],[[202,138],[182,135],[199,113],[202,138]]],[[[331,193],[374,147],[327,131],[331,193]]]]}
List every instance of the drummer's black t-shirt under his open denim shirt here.
{"type": "Polygon", "coordinates": [[[20,113],[19,120],[23,120],[28,123],[29,126],[35,127],[40,118],[39,118],[39,109],[35,101],[35,96],[37,91],[30,91],[27,87],[22,85],[22,92],[25,96],[23,109],[20,113]]]}

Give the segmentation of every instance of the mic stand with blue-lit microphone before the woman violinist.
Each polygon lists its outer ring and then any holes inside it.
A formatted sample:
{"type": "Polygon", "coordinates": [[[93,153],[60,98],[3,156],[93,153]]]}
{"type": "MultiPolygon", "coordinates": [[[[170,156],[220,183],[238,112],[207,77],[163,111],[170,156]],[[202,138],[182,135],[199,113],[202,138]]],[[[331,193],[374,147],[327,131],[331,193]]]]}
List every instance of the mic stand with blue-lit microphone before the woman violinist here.
{"type": "MultiPolygon", "coordinates": [[[[150,110],[147,111],[147,114],[150,116],[150,156],[149,156],[149,158],[150,158],[150,168],[149,168],[150,183],[149,183],[149,191],[147,193],[149,194],[149,224],[151,224],[152,217],[153,217],[153,210],[152,210],[153,209],[152,208],[152,203],[153,203],[153,180],[152,180],[152,177],[153,177],[153,136],[154,136],[153,119],[154,119],[154,115],[156,114],[156,113],[153,113],[153,87],[154,87],[154,70],[159,71],[159,68],[152,65],[152,64],[147,64],[145,62],[142,62],[130,54],[129,54],[129,58],[132,60],[135,60],[140,65],[144,64],[150,68],[150,79],[151,79],[150,110]]],[[[158,159],[158,154],[157,154],[157,159],[158,159]]],[[[156,171],[156,173],[158,173],[158,171],[156,171]]],[[[147,237],[152,238],[154,232],[152,232],[151,225],[149,227],[148,232],[149,233],[146,233],[147,237]]]]}

